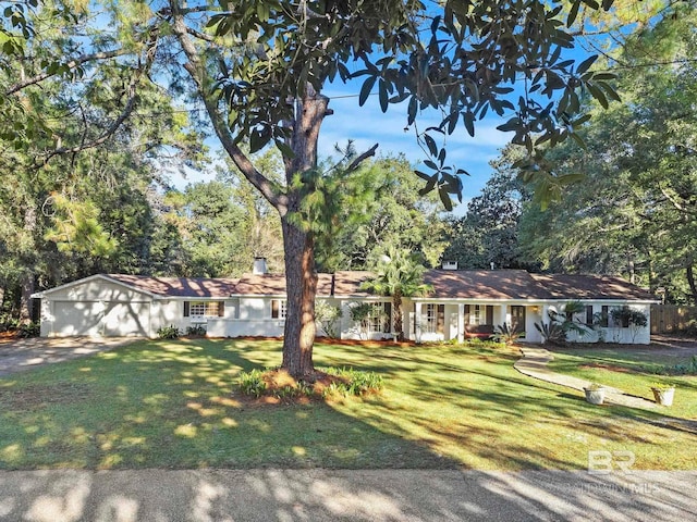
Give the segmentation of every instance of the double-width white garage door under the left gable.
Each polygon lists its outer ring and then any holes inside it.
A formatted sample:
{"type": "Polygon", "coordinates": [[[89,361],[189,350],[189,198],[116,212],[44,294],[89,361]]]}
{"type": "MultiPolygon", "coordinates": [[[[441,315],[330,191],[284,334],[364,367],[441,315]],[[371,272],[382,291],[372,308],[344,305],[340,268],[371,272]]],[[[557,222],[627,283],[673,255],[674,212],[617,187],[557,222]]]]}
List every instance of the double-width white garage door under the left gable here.
{"type": "Polygon", "coordinates": [[[54,301],[53,335],[148,336],[148,302],[54,301]]]}

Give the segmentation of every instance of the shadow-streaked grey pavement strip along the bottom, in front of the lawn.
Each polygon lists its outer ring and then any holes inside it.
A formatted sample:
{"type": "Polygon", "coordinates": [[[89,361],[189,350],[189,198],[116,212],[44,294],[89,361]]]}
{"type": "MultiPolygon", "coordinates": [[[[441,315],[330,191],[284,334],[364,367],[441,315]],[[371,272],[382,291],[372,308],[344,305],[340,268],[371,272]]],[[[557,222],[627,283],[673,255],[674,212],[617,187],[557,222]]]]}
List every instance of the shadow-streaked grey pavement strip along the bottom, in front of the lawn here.
{"type": "Polygon", "coordinates": [[[0,520],[696,520],[697,472],[448,470],[0,472],[0,520]]]}

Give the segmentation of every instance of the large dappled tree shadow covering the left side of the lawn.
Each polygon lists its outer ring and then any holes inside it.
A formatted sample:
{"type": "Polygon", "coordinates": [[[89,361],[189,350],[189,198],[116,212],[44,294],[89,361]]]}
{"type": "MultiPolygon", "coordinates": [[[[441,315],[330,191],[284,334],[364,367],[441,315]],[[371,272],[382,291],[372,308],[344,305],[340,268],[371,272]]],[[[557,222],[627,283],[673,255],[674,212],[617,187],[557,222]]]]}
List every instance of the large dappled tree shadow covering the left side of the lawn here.
{"type": "Polygon", "coordinates": [[[0,468],[457,465],[326,403],[241,403],[239,372],[278,353],[230,346],[150,343],[0,382],[0,468]]]}

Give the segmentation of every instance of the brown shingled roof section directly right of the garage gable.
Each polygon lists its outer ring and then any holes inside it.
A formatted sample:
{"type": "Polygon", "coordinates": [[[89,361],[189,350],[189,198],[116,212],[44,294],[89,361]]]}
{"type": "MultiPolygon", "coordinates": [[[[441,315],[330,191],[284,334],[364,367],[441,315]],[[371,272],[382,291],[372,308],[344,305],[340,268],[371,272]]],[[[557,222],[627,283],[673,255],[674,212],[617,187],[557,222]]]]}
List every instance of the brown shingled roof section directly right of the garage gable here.
{"type": "Polygon", "coordinates": [[[219,277],[148,277],[126,274],[109,274],[107,277],[160,297],[228,297],[237,284],[237,279],[219,277]]]}

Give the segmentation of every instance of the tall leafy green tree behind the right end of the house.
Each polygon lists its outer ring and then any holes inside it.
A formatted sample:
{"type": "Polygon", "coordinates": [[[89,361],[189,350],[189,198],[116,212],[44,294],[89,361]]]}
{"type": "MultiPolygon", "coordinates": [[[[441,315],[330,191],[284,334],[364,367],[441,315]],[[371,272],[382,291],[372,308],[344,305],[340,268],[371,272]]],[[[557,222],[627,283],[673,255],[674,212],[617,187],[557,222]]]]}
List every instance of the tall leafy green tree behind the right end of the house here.
{"type": "Polygon", "coordinates": [[[697,70],[695,11],[631,38],[615,58],[624,104],[596,109],[549,169],[584,175],[548,211],[526,207],[522,241],[552,271],[621,273],[663,286],[675,302],[696,302],[697,70]]]}

